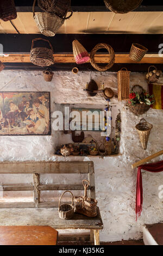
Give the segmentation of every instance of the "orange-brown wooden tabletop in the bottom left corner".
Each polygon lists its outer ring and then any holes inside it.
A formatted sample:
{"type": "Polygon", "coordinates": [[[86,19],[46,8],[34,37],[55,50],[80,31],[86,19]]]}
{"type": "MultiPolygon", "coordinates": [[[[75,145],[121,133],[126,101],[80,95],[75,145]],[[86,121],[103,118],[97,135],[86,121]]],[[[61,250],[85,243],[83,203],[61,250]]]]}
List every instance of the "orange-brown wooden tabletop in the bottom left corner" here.
{"type": "Polygon", "coordinates": [[[0,245],[56,245],[57,236],[48,226],[0,226],[0,245]]]}

